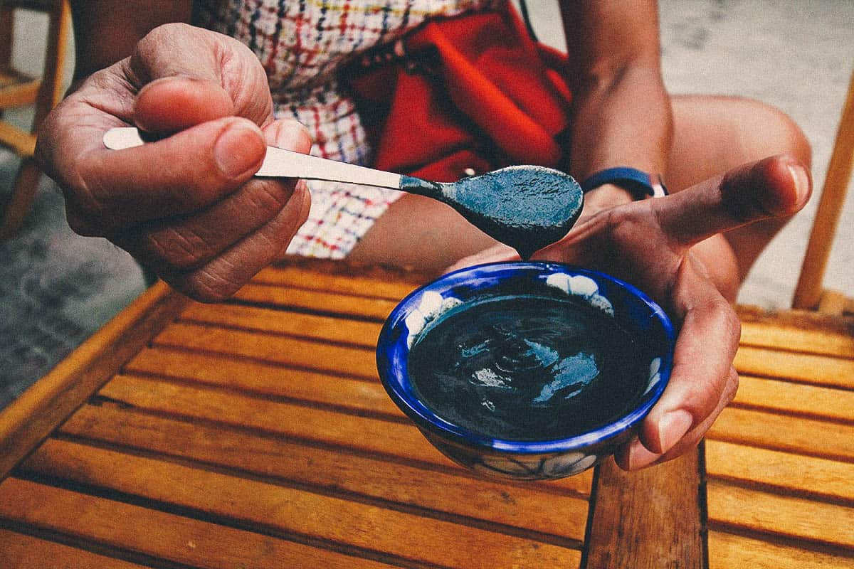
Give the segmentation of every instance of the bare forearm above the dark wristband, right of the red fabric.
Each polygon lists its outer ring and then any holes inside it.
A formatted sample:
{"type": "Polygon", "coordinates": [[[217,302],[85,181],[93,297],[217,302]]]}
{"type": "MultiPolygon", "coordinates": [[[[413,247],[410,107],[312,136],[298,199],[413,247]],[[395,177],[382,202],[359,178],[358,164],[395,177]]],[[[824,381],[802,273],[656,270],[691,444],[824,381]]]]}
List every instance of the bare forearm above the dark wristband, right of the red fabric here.
{"type": "MultiPolygon", "coordinates": [[[[585,179],[595,171],[631,166],[664,174],[673,132],[670,97],[660,71],[658,9],[640,0],[572,0],[561,5],[574,70],[570,173],[585,179]]],[[[630,199],[613,186],[615,205],[630,199]]]]}

